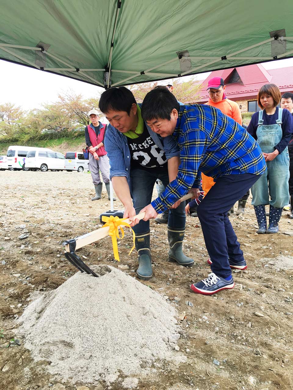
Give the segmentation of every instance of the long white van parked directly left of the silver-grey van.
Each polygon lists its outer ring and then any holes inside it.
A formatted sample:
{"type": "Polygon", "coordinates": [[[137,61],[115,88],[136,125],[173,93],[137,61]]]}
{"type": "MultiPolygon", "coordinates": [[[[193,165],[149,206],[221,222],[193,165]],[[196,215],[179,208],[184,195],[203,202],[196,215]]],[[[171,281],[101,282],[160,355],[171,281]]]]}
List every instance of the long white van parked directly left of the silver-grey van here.
{"type": "Polygon", "coordinates": [[[65,156],[51,149],[34,148],[29,151],[25,159],[25,167],[31,170],[64,170],[65,156]]]}

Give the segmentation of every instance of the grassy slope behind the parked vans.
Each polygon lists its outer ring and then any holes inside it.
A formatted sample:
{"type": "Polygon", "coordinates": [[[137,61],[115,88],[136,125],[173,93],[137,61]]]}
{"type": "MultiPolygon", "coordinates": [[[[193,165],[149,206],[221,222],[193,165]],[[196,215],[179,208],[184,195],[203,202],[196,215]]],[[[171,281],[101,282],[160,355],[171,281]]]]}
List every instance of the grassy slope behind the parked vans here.
{"type": "MultiPolygon", "coordinates": [[[[7,152],[8,147],[11,144],[1,143],[0,142],[0,154],[5,154],[7,152]]],[[[46,147],[52,149],[56,152],[61,152],[65,154],[66,152],[75,152],[82,151],[82,148],[86,146],[84,135],[81,137],[75,138],[74,140],[70,140],[68,138],[57,138],[56,140],[43,140],[36,141],[33,143],[28,143],[26,146],[36,146],[36,147],[46,147]]]]}

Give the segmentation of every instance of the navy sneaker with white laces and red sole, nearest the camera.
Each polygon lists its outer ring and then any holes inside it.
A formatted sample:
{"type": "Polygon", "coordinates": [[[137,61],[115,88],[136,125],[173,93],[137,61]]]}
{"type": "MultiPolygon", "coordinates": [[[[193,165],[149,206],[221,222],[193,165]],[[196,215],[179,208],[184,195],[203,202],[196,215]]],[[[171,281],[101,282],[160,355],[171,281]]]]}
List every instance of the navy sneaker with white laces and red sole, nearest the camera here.
{"type": "Polygon", "coordinates": [[[218,277],[215,273],[210,273],[206,279],[191,285],[191,290],[197,294],[212,295],[221,290],[232,289],[234,287],[234,280],[231,275],[230,280],[218,277]]]}

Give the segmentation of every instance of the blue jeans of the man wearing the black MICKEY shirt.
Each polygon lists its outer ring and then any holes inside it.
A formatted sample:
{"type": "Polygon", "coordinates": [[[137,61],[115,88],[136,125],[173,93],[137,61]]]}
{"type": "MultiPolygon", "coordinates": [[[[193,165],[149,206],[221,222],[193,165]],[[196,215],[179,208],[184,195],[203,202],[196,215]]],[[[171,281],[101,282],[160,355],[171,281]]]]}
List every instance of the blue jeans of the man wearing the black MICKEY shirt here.
{"type": "MultiPolygon", "coordinates": [[[[166,187],[169,184],[168,168],[132,169],[131,193],[136,214],[152,202],[152,194],[157,179],[166,187]]],[[[177,209],[169,210],[168,226],[185,228],[185,203],[182,202],[177,209]]],[[[150,229],[150,221],[140,221],[134,226],[136,234],[147,232],[150,229]]]]}

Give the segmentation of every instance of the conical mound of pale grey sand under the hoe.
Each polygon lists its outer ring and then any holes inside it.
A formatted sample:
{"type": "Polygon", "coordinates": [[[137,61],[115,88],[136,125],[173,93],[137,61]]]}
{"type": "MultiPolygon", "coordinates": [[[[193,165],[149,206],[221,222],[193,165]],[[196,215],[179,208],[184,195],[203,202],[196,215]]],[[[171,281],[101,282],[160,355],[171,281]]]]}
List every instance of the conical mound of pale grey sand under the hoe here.
{"type": "Polygon", "coordinates": [[[176,310],[116,268],[93,269],[100,277],[78,272],[23,312],[18,332],[34,360],[50,361],[49,372],[71,383],[111,382],[119,371],[141,377],[155,360],[184,361],[174,351],[176,310]]]}

